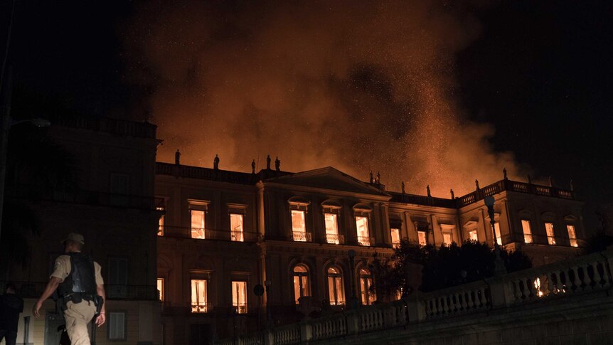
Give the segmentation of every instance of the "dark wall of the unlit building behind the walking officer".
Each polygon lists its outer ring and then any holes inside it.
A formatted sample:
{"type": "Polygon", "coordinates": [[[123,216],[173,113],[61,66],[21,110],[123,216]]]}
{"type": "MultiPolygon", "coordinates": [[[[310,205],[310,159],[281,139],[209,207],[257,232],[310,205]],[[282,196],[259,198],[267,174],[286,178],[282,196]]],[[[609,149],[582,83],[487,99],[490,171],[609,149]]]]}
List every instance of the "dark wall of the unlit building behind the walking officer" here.
{"type": "MultiPolygon", "coordinates": [[[[127,313],[126,341],[108,341],[107,327],[99,329],[97,344],[161,344],[160,308],[156,298],[156,232],[162,212],[154,200],[155,126],[110,119],[54,119],[46,138],[62,147],[75,162],[78,189],[55,190],[31,197],[28,181],[8,191],[7,198],[25,203],[39,223],[30,235],[26,265],[12,265],[7,281],[16,282],[25,297],[18,341],[23,341],[23,317],[31,317],[29,341],[46,344],[45,317],[31,315],[70,232],[85,237],[83,251],[102,266],[107,291],[107,312],[127,313]],[[119,178],[117,177],[119,176],[119,178]],[[126,260],[125,282],[110,277],[110,259],[126,260]]],[[[4,284],[3,284],[4,286],[4,284]]],[[[46,312],[55,309],[48,300],[46,312]]]]}

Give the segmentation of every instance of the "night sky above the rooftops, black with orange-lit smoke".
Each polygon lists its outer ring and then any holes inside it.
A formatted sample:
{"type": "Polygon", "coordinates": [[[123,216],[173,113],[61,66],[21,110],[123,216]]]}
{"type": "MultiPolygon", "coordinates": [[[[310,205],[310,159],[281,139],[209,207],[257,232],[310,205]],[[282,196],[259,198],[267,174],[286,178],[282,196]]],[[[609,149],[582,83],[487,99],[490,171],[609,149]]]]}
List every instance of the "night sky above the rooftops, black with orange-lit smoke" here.
{"type": "MultiPolygon", "coordinates": [[[[3,52],[8,2],[0,8],[3,52]]],[[[444,197],[450,187],[458,195],[474,186],[479,170],[462,165],[470,161],[486,171],[481,186],[500,179],[501,172],[494,174],[503,167],[513,179],[552,176],[565,188],[572,179],[587,201],[589,226],[596,224],[595,208],[613,201],[611,1],[438,1],[390,11],[343,9],[337,2],[334,9],[250,1],[51,2],[16,6],[9,61],[22,102],[37,98],[85,115],[147,119],[165,140],[159,160],[181,148],[186,164],[210,166],[219,152],[223,169],[248,171],[251,159],[261,168],[265,154],[278,154],[289,171],[332,165],[366,180],[368,170],[381,170],[389,189],[399,190],[402,180],[423,194],[432,184],[435,196],[444,197]],[[338,26],[331,24],[337,18],[338,26]],[[227,86],[233,83],[240,86],[227,86]],[[260,92],[260,84],[264,91],[282,89],[260,98],[282,101],[259,105],[250,92],[260,92]],[[430,104],[430,96],[445,101],[430,104]],[[306,106],[318,99],[326,106],[306,106]],[[226,115],[235,104],[250,107],[226,115]],[[238,120],[229,122],[233,116],[238,120]],[[287,126],[286,117],[294,119],[287,126]],[[358,127],[345,129],[347,122],[358,127]],[[298,133],[300,125],[321,127],[298,133]],[[206,139],[194,139],[195,126],[206,139]],[[335,130],[309,142],[328,127],[335,130]],[[447,170],[445,159],[456,156],[448,147],[469,151],[476,144],[483,154],[462,156],[453,161],[457,171],[447,170]],[[367,149],[355,153],[356,147],[367,149]]],[[[17,102],[14,117],[26,107],[17,102]]]]}

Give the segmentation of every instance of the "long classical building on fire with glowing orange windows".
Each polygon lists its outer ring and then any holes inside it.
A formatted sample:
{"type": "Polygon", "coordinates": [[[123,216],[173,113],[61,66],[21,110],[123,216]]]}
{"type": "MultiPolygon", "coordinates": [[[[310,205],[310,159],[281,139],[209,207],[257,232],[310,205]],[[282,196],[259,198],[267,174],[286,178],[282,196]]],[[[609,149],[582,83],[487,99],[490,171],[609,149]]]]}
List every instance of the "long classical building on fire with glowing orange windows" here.
{"type": "Polygon", "coordinates": [[[249,173],[177,159],[156,164],[155,193],[166,205],[157,254],[166,344],[238,336],[313,306],[342,310],[352,296],[371,304],[368,262],[390,256],[400,240],[496,240],[543,265],[576,255],[585,238],[574,191],[506,174],[459,198],[436,198],[333,167],[290,173],[269,163],[249,173]],[[496,201],[495,235],[486,196],[496,201]]]}

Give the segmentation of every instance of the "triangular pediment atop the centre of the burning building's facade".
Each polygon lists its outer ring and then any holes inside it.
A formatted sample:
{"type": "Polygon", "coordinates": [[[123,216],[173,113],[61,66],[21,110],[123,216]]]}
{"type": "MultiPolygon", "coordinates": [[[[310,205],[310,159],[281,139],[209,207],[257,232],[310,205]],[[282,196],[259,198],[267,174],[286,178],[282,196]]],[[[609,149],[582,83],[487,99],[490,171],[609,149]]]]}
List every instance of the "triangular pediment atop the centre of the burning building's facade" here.
{"type": "Polygon", "coordinates": [[[287,184],[292,186],[305,186],[316,189],[330,189],[334,191],[348,191],[353,193],[388,196],[385,191],[377,189],[331,166],[325,168],[302,171],[291,175],[266,179],[266,182],[287,184]]]}

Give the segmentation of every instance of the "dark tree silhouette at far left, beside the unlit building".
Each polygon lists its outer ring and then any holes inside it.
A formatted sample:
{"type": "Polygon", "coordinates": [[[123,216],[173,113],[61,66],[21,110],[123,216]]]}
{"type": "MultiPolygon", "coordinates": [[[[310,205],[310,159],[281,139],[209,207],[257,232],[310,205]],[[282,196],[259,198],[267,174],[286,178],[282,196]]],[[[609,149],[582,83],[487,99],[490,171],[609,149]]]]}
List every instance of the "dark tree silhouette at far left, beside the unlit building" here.
{"type": "MultiPolygon", "coordinates": [[[[64,109],[53,98],[38,97],[24,88],[13,93],[11,117],[26,120],[50,118],[64,109]]],[[[11,265],[25,265],[30,257],[28,239],[43,229],[38,216],[28,205],[53,198],[57,191],[78,190],[76,161],[47,135],[48,128],[28,122],[16,124],[9,131],[6,153],[4,210],[0,238],[0,269],[9,274],[11,265]]]]}

